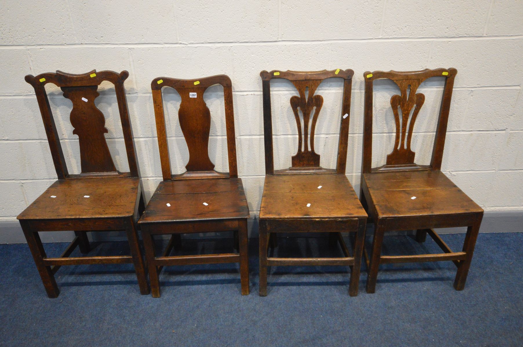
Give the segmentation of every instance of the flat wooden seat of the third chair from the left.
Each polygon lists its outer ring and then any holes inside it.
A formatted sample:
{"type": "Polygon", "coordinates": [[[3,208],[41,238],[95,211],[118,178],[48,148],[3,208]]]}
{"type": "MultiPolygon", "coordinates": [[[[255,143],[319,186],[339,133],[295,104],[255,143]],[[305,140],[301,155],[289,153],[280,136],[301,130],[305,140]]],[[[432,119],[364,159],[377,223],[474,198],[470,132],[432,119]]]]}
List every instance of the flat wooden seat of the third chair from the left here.
{"type": "Polygon", "coordinates": [[[365,209],[343,174],[265,176],[260,218],[366,217],[365,209]],[[307,207],[308,204],[311,205],[307,207]]]}

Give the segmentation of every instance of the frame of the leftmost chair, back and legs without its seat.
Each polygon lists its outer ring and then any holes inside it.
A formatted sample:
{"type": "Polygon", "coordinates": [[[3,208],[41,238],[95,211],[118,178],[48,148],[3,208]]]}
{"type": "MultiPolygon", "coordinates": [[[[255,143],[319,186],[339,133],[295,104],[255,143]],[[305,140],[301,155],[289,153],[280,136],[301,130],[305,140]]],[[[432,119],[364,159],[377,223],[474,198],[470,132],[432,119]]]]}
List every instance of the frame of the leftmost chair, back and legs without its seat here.
{"type": "MultiPolygon", "coordinates": [[[[33,259],[40,273],[43,285],[46,288],[49,297],[54,298],[59,295],[58,285],[54,279],[54,274],[62,265],[82,265],[82,264],[134,264],[134,268],[138,278],[138,284],[140,286],[140,292],[142,294],[149,294],[149,285],[147,284],[145,266],[138,243],[137,225],[134,220],[134,216],[140,214],[144,210],[144,200],[141,184],[138,176],[138,163],[136,159],[136,153],[134,148],[132,128],[129,119],[129,110],[127,107],[127,100],[123,82],[129,77],[128,71],[122,71],[120,74],[114,71],[99,71],[92,70],[86,74],[73,75],[66,74],[61,71],[56,73],[45,73],[40,74],[36,77],[27,75],[25,80],[35,89],[38,105],[42,115],[43,123],[46,128],[46,134],[49,141],[49,147],[51,149],[51,155],[58,175],[57,182],[71,182],[72,179],[83,178],[89,180],[90,178],[103,178],[103,177],[136,177],[138,184],[138,195],[135,200],[134,215],[129,217],[115,217],[115,218],[62,218],[62,219],[27,219],[24,217],[24,212],[18,216],[22,230],[24,231],[27,243],[31,250],[33,259]],[[109,81],[113,83],[116,90],[116,97],[118,100],[118,109],[120,113],[120,121],[123,129],[123,137],[126,145],[127,159],[129,162],[130,172],[117,172],[115,166],[112,163],[110,153],[107,149],[107,143],[103,135],[105,129],[105,118],[101,112],[94,106],[94,98],[98,96],[96,92],[97,87],[103,81],[109,81]],[[92,96],[89,112],[96,112],[96,116],[101,115],[101,118],[93,116],[86,122],[92,122],[91,125],[100,126],[100,133],[97,134],[100,137],[93,139],[89,134],[83,133],[86,124],[83,126],[75,126],[74,134],[78,134],[81,138],[81,159],[82,159],[82,173],[73,175],[67,171],[62,146],[60,145],[60,138],[58,131],[54,123],[54,119],[51,112],[51,106],[47,97],[45,86],[47,83],[53,83],[54,85],[61,87],[64,91],[64,97],[71,98],[73,100],[73,110],[81,107],[76,105],[76,98],[88,93],[92,96]],[[94,123],[93,123],[94,122],[94,123]],[[96,123],[100,122],[100,123],[96,123]],[[85,145],[84,145],[85,144],[85,145]],[[85,147],[84,147],[85,146],[85,147]],[[96,151],[88,151],[89,146],[93,146],[91,149],[101,149],[104,155],[99,155],[96,151]],[[107,150],[107,151],[105,151],[107,150]],[[58,258],[49,258],[43,248],[42,242],[38,232],[46,231],[69,231],[75,230],[76,237],[73,242],[65,249],[63,254],[58,258]],[[115,231],[124,230],[126,231],[129,246],[131,249],[131,255],[128,256],[93,256],[93,257],[69,257],[76,246],[82,253],[88,253],[90,250],[89,241],[87,238],[87,231],[115,231]]],[[[85,100],[86,101],[86,100],[85,100]]],[[[82,101],[83,102],[83,101],[82,101]]],[[[87,101],[85,103],[86,107],[87,101]]],[[[73,120],[73,112],[71,119],[73,120]]],[[[79,118],[75,118],[78,122],[79,118]]],[[[87,181],[86,181],[87,182],[87,181]]]]}

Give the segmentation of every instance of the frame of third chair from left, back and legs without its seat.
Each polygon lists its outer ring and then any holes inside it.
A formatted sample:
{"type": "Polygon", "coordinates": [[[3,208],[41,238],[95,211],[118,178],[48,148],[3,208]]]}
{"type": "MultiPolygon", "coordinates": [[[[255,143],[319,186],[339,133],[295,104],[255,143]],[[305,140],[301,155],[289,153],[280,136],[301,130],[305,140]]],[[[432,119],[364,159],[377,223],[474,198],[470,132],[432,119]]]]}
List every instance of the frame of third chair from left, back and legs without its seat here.
{"type": "MultiPolygon", "coordinates": [[[[349,132],[350,114],[350,95],[351,83],[354,71],[347,70],[322,70],[322,71],[261,71],[260,76],[263,86],[263,110],[264,110],[264,141],[265,141],[265,173],[266,177],[273,175],[292,175],[292,174],[328,174],[345,176],[347,162],[347,146],[349,132]],[[336,169],[324,169],[320,166],[320,155],[314,152],[314,130],[317,117],[319,116],[323,98],[321,95],[314,95],[316,88],[327,78],[340,77],[344,79],[343,85],[343,105],[342,117],[340,117],[339,143],[336,169]],[[274,170],[274,149],[272,146],[272,112],[270,99],[270,81],[275,78],[283,78],[291,81],[298,90],[300,97],[292,97],[290,102],[298,126],[298,152],[292,157],[292,166],[289,169],[274,170]],[[308,95],[306,95],[308,89],[308,95]],[[303,114],[303,122],[309,124],[312,115],[312,125],[310,141],[308,126],[303,127],[303,140],[301,121],[298,108],[303,114]],[[346,115],[346,116],[343,116],[346,115]],[[310,149],[308,147],[310,142],[310,149]],[[303,143],[303,146],[302,146],[303,143]],[[303,150],[302,150],[303,148],[303,150]]],[[[304,176],[304,179],[306,177],[304,176]]],[[[348,181],[347,181],[348,183],[348,181]]],[[[267,181],[266,181],[267,184],[267,181]]],[[[350,184],[349,184],[350,186],[350,184]]],[[[264,188],[265,195],[265,188],[264,188]]],[[[359,205],[359,204],[358,204],[359,205]]],[[[267,295],[267,267],[268,266],[317,266],[317,265],[342,265],[349,266],[351,270],[349,294],[358,294],[359,273],[363,243],[365,240],[365,227],[367,216],[362,211],[363,216],[359,218],[264,218],[260,214],[259,218],[259,261],[260,261],[260,284],[259,295],[267,295]],[[269,245],[274,248],[277,246],[276,234],[281,232],[329,232],[329,243],[335,245],[339,242],[344,253],[341,258],[277,258],[268,257],[269,245]],[[354,246],[350,250],[345,244],[342,232],[355,232],[356,237],[354,246]]]]}

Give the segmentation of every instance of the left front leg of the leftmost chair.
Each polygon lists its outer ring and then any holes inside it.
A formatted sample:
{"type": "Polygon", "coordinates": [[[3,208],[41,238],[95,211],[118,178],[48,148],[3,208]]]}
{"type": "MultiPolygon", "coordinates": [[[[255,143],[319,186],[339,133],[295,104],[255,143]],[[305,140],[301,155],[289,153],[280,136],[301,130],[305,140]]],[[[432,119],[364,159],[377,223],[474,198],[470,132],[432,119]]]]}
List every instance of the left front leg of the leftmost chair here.
{"type": "Polygon", "coordinates": [[[24,235],[26,236],[27,245],[31,250],[33,259],[35,259],[35,264],[40,273],[40,278],[42,279],[43,286],[46,288],[47,296],[50,298],[58,297],[60,290],[58,289],[58,284],[54,280],[54,274],[51,271],[50,266],[45,266],[42,262],[43,258],[46,258],[46,251],[43,249],[42,241],[40,240],[40,235],[38,232],[31,230],[29,224],[25,221],[20,221],[24,235]]]}

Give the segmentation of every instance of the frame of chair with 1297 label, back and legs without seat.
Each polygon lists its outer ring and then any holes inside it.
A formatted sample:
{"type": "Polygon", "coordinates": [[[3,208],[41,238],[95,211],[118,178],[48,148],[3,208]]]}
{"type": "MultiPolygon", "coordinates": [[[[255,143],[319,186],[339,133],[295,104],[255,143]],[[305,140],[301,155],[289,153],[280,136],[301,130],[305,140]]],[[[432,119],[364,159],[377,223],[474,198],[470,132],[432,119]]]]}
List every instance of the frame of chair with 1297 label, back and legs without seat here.
{"type": "MultiPolygon", "coordinates": [[[[153,93],[158,146],[160,148],[160,159],[164,180],[163,183],[180,180],[206,180],[208,178],[235,178],[241,186],[241,180],[240,178],[237,178],[238,173],[231,79],[226,75],[191,80],[158,77],[151,82],[151,89],[153,93]],[[210,113],[203,101],[203,93],[208,87],[215,84],[219,84],[223,87],[223,98],[225,104],[225,125],[229,160],[229,172],[225,173],[214,170],[214,164],[210,161],[208,155],[210,113]],[[180,127],[182,128],[189,149],[189,162],[186,165],[187,171],[179,175],[173,175],[170,166],[162,98],[163,87],[175,89],[182,99],[178,116],[180,119],[180,127]],[[198,97],[190,97],[189,93],[195,93],[194,95],[198,95],[198,97]],[[198,116],[195,116],[195,114],[198,114],[198,116]],[[198,139],[196,139],[196,137],[198,137],[198,139]]],[[[147,209],[149,209],[149,206],[147,206],[147,209]]],[[[167,219],[154,222],[148,222],[142,218],[142,220],[139,221],[139,224],[143,233],[145,257],[147,266],[149,267],[151,292],[153,297],[160,297],[160,281],[158,277],[163,267],[166,265],[218,264],[225,262],[238,262],[240,264],[242,295],[248,295],[249,268],[247,220],[249,218],[249,213],[247,207],[246,209],[246,213],[242,218],[194,218],[191,220],[191,218],[188,217],[187,220],[167,219]],[[179,245],[181,233],[208,233],[221,231],[233,231],[234,247],[235,249],[239,249],[239,253],[169,256],[173,247],[179,245]],[[172,236],[162,255],[156,256],[153,235],[161,234],[172,234],[172,236]]],[[[144,217],[146,214],[147,210],[144,217]]]]}

